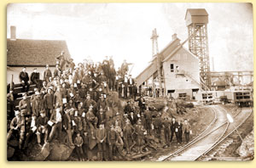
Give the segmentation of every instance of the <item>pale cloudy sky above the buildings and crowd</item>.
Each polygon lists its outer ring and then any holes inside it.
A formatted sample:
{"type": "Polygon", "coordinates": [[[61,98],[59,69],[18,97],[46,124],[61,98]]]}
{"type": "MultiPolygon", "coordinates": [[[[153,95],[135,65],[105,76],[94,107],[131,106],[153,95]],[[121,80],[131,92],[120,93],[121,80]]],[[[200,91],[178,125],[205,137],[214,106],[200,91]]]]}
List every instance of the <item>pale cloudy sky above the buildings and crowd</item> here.
{"type": "Polygon", "coordinates": [[[154,28],[160,50],[174,33],[186,40],[187,8],[206,8],[209,14],[211,69],[213,58],[215,71],[253,70],[251,3],[11,3],[7,37],[15,25],[20,39],[65,40],[75,63],[113,56],[116,69],[124,59],[133,63],[136,77],[152,59],[154,28]]]}

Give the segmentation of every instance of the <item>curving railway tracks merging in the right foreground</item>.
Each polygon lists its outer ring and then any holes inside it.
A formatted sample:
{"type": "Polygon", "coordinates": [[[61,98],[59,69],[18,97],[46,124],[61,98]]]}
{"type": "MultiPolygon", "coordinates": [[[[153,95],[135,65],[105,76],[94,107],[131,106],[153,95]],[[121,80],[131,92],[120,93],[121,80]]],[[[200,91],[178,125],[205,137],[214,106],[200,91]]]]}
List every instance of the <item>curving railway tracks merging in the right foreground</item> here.
{"type": "Polygon", "coordinates": [[[223,142],[232,132],[251,115],[252,111],[234,115],[235,121],[230,123],[226,119],[227,111],[220,106],[209,106],[215,113],[215,118],[207,129],[193,141],[178,149],[172,154],[161,156],[158,161],[180,160],[192,161],[205,156],[212,148],[223,142]]]}

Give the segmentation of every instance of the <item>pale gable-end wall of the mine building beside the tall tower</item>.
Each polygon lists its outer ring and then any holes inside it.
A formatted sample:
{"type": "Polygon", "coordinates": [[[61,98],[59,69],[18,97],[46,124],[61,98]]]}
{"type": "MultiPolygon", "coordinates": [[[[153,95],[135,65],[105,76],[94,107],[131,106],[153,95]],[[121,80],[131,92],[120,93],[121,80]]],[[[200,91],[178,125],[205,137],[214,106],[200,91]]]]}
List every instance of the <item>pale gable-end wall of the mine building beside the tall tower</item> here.
{"type": "Polygon", "coordinates": [[[200,88],[199,60],[186,49],[180,48],[175,55],[164,62],[163,69],[166,83],[166,94],[168,90],[176,90],[176,92],[180,93],[187,92],[190,98],[192,98],[192,89],[200,88]],[[174,66],[174,72],[171,72],[171,64],[174,66]],[[179,72],[183,71],[194,80],[191,80],[188,76],[177,76],[177,66],[179,67],[179,72]]]}

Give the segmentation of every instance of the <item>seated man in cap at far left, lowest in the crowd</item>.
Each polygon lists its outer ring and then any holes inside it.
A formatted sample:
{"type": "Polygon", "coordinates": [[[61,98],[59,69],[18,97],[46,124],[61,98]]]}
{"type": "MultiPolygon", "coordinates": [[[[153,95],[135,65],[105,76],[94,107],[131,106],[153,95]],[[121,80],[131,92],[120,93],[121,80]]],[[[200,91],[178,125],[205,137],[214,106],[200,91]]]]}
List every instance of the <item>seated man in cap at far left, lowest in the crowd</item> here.
{"type": "Polygon", "coordinates": [[[9,138],[12,136],[13,132],[19,132],[19,148],[21,148],[25,136],[25,117],[23,114],[21,115],[20,111],[15,111],[15,118],[13,118],[10,123],[10,130],[7,134],[7,143],[9,142],[9,138]]]}

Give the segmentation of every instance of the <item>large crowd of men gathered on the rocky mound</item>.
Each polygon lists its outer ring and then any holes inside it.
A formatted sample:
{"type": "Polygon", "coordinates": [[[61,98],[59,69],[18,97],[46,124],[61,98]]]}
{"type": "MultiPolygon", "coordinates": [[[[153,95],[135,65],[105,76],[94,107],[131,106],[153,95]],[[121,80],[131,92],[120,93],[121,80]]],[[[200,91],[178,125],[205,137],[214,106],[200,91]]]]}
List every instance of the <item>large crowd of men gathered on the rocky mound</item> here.
{"type": "MultiPolygon", "coordinates": [[[[86,63],[75,66],[61,53],[55,70],[46,65],[43,83],[35,69],[29,77],[26,68],[20,72],[23,94],[19,110],[10,122],[7,141],[14,135],[19,137],[19,148],[26,149],[36,137],[39,146],[58,140],[75,146],[79,160],[88,160],[90,143],[95,141],[97,160],[113,160],[113,155],[131,154],[132,148],[143,153],[143,144],[148,136],[161,139],[164,132],[166,146],[170,146],[174,136],[177,143],[189,142],[191,128],[188,120],[163,117],[137,95],[137,86],[128,75],[129,64],[124,61],[115,70],[113,59],[106,57],[102,63],[86,63]],[[35,84],[34,94],[27,98],[31,84],[35,84]],[[109,104],[106,99],[111,92],[118,92],[119,98],[126,98],[124,111],[107,116],[109,104]],[[138,97],[137,97],[138,96],[138,97]],[[136,103],[137,102],[137,103],[136,103]],[[64,136],[65,135],[65,136],[64,136]]],[[[11,90],[11,89],[10,89],[11,90]]],[[[13,99],[12,91],[8,101],[13,99]]],[[[168,107],[163,109],[167,113],[168,107]]],[[[90,148],[91,149],[91,148],[90,148]]]]}

